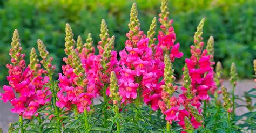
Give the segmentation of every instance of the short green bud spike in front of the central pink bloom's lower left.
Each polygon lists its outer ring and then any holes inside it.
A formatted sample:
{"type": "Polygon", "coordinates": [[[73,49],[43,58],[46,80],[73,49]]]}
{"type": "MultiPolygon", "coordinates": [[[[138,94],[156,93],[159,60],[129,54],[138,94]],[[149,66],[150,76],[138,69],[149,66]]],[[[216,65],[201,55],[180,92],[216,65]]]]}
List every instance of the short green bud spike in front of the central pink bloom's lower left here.
{"type": "Polygon", "coordinates": [[[122,99],[118,92],[119,86],[117,84],[117,76],[114,71],[111,72],[110,76],[110,99],[113,101],[113,104],[116,105],[122,99]]]}

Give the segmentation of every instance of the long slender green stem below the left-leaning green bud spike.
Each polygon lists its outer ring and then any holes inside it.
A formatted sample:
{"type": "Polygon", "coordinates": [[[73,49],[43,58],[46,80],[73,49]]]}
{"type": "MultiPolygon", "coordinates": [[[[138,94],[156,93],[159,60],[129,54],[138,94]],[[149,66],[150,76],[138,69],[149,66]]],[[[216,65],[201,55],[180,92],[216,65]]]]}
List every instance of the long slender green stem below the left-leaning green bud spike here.
{"type": "Polygon", "coordinates": [[[53,99],[53,106],[54,106],[54,112],[55,112],[55,116],[57,116],[57,130],[60,133],[61,129],[60,129],[60,120],[59,120],[59,111],[58,111],[58,107],[56,106],[56,93],[54,90],[54,84],[53,84],[53,80],[52,80],[52,75],[50,74],[49,76],[50,79],[50,83],[51,83],[51,92],[52,92],[52,99],[53,99]]]}

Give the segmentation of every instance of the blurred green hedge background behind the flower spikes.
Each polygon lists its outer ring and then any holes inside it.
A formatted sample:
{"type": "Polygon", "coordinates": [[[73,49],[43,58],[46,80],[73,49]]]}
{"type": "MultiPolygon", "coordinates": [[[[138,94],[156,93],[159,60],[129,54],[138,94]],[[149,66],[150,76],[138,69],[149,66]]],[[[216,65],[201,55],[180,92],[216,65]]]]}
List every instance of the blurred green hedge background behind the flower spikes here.
{"type": "MultiPolygon", "coordinates": [[[[160,0],[9,0],[0,1],[0,80],[5,80],[9,63],[12,32],[18,29],[23,51],[28,60],[30,49],[37,48],[37,39],[43,40],[55,58],[57,71],[63,64],[65,24],[69,23],[75,39],[81,35],[86,40],[92,33],[94,45],[99,41],[100,21],[105,19],[110,35],[116,36],[116,50],[124,48],[128,31],[130,8],[137,2],[139,20],[144,32],[154,16],[160,12],[160,0]]],[[[239,77],[253,74],[253,58],[256,58],[256,2],[255,0],[184,0],[169,1],[170,18],[184,57],[176,60],[178,76],[185,58],[190,57],[193,34],[201,18],[205,17],[205,42],[210,35],[215,39],[215,61],[224,65],[228,77],[230,64],[237,64],[239,77]]],[[[158,23],[159,27],[159,23],[158,23]]],[[[159,29],[159,28],[158,28],[159,29]]],[[[157,29],[157,30],[158,30],[157,29]]],[[[57,73],[57,72],[56,72],[57,73]]]]}

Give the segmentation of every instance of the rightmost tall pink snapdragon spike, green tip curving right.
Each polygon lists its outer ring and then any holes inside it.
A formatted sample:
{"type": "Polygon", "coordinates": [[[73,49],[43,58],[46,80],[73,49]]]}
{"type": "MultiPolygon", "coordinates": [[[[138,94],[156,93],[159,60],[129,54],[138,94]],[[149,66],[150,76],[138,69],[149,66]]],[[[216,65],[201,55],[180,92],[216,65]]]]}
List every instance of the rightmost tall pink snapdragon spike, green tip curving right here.
{"type": "Polygon", "coordinates": [[[209,100],[208,90],[215,87],[215,82],[211,56],[207,55],[207,50],[203,50],[204,42],[201,42],[204,20],[201,20],[195,33],[195,45],[191,46],[191,58],[186,58],[185,62],[191,76],[192,90],[197,91],[196,95],[199,95],[200,100],[209,100]]]}

